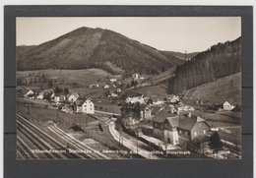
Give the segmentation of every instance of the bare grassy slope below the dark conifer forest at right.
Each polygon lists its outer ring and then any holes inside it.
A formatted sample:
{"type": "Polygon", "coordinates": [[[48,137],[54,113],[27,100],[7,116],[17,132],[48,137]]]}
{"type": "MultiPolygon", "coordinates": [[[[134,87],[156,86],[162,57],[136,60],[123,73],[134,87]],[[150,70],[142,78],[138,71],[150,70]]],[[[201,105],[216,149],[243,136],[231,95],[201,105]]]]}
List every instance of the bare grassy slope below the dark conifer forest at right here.
{"type": "Polygon", "coordinates": [[[239,105],[241,104],[241,73],[201,86],[193,95],[193,99],[203,99],[219,103],[224,102],[228,98],[233,99],[239,105]]]}

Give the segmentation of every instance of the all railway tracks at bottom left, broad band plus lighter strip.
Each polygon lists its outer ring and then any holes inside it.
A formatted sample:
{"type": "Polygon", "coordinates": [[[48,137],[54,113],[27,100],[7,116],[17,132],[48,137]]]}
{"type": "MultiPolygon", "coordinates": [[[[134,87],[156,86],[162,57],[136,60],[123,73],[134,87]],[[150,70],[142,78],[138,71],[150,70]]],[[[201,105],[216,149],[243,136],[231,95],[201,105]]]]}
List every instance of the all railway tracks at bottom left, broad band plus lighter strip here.
{"type": "MultiPolygon", "coordinates": [[[[55,159],[66,159],[66,158],[93,158],[93,159],[108,159],[106,155],[96,152],[95,149],[89,148],[79,141],[75,140],[74,138],[68,136],[65,132],[57,128],[56,126],[49,126],[48,129],[51,130],[53,133],[57,134],[60,138],[65,140],[69,145],[72,145],[73,148],[76,148],[72,151],[71,148],[67,148],[63,144],[59,143],[46,133],[42,132],[40,129],[32,125],[29,121],[23,118],[20,115],[17,115],[17,124],[18,124],[18,132],[20,132],[21,136],[24,136],[26,139],[29,140],[30,147],[26,144],[23,144],[23,147],[19,147],[21,149],[19,151],[19,155],[23,155],[24,158],[36,158],[32,156],[32,148],[37,148],[38,150],[54,150],[54,151],[43,151],[40,154],[43,158],[55,158],[55,159]],[[58,150],[65,150],[62,152],[58,152],[58,150]]],[[[24,138],[23,138],[24,140],[24,138]]],[[[21,144],[21,139],[18,140],[21,144]]],[[[28,141],[27,141],[28,142],[28,141]]],[[[26,142],[26,143],[27,143],[26,142]]],[[[34,154],[34,153],[33,153],[34,154]]],[[[40,156],[41,158],[41,156],[40,156]]]]}

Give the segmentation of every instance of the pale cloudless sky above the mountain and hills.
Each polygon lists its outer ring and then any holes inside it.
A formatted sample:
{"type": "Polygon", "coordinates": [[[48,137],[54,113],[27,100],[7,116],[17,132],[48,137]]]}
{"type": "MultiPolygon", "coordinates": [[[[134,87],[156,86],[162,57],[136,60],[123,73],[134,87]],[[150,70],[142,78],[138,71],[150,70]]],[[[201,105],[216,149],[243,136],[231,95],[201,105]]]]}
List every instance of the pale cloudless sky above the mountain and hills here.
{"type": "Polygon", "coordinates": [[[200,52],[241,35],[239,17],[17,18],[17,45],[38,45],[81,27],[114,30],[159,50],[200,52]]]}

